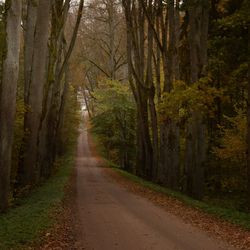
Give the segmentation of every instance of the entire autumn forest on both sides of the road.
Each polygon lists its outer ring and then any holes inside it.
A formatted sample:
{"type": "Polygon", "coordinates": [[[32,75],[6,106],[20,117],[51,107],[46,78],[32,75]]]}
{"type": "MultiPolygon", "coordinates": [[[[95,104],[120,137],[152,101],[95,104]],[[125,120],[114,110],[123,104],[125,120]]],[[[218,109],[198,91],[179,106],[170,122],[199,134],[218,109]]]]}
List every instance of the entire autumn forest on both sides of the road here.
{"type": "Polygon", "coordinates": [[[250,1],[0,2],[0,211],[53,176],[81,103],[110,164],[250,209],[250,1]]]}

